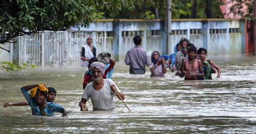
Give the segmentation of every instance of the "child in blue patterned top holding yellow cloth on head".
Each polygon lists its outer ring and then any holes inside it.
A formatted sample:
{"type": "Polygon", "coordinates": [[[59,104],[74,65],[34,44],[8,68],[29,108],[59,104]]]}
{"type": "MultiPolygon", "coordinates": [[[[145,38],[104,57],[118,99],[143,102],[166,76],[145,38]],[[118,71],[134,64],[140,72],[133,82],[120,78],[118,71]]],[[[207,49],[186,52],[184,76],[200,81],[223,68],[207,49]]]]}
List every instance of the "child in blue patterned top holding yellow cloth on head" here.
{"type": "Polygon", "coordinates": [[[47,87],[44,84],[23,86],[20,88],[28,105],[32,110],[32,115],[53,116],[54,112],[67,116],[69,113],[62,106],[54,102],[46,102],[47,87]],[[28,91],[31,90],[30,94],[28,91]]]}

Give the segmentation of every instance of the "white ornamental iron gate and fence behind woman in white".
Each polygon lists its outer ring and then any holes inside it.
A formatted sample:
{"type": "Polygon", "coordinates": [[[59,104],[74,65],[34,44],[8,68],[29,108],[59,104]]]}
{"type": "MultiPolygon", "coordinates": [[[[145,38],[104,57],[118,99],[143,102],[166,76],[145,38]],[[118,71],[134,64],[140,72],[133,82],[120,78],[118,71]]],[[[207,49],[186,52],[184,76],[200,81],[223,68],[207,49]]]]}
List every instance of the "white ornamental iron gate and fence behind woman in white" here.
{"type": "Polygon", "coordinates": [[[97,53],[112,52],[113,37],[107,32],[40,32],[19,37],[20,63],[37,66],[78,66],[81,64],[81,49],[87,36],[92,36],[97,53]],[[111,41],[112,40],[112,41],[111,41]],[[107,45],[107,41],[110,42],[107,45]]]}

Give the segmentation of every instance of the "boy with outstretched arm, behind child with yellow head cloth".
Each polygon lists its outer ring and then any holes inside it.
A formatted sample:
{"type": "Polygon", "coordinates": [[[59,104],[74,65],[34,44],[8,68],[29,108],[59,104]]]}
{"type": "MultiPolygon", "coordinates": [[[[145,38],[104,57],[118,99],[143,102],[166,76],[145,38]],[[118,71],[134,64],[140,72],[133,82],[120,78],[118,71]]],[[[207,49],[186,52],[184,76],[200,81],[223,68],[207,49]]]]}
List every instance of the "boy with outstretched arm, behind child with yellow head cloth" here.
{"type": "MultiPolygon", "coordinates": [[[[52,87],[47,87],[48,88],[48,93],[46,96],[46,100],[47,102],[54,102],[55,98],[56,98],[56,94],[57,91],[52,88],[52,87]]],[[[26,106],[28,105],[28,101],[22,101],[22,102],[18,102],[18,103],[4,103],[4,108],[6,108],[7,106],[26,106]]]]}

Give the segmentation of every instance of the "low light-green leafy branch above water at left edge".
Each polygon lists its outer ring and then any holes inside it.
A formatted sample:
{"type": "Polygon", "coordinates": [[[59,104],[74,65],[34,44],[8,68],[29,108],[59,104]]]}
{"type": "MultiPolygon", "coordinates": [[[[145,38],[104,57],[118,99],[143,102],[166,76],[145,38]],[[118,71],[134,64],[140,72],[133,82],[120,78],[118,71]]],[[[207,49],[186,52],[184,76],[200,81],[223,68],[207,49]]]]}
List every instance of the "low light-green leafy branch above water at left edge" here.
{"type": "Polygon", "coordinates": [[[26,64],[26,63],[22,63],[23,66],[17,66],[14,63],[10,63],[10,62],[0,62],[0,69],[1,70],[5,70],[5,71],[18,71],[21,69],[27,69],[28,66],[30,66],[31,68],[35,68],[36,65],[34,64],[26,64]]]}

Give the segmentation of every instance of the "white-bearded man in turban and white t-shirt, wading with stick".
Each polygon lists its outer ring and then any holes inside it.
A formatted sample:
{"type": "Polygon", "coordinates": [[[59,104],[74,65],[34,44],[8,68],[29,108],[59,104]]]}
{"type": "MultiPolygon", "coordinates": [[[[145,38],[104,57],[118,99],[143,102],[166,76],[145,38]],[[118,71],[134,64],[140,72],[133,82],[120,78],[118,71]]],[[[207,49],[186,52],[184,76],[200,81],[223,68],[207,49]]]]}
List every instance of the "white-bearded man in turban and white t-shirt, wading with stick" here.
{"type": "MultiPolygon", "coordinates": [[[[113,110],[115,108],[113,97],[115,91],[124,100],[124,94],[120,92],[116,84],[111,79],[103,79],[105,74],[105,64],[94,62],[91,64],[93,82],[87,84],[84,89],[82,100],[79,102],[81,111],[88,111],[87,100],[91,98],[93,110],[113,110]]],[[[119,100],[121,100],[119,98],[119,100]]]]}

